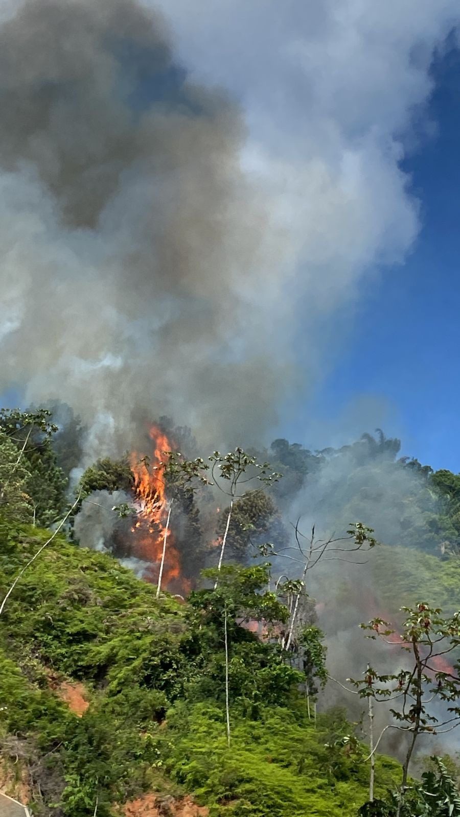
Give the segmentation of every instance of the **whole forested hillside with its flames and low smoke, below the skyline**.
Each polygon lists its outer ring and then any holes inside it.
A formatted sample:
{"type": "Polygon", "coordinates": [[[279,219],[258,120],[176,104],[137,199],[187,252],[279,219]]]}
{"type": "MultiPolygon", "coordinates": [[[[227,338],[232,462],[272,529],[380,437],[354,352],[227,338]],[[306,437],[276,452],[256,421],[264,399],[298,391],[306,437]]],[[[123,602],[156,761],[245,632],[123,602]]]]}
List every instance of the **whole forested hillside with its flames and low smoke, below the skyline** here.
{"type": "Polygon", "coordinates": [[[85,435],[0,413],[2,791],[43,817],[460,815],[460,475],[380,430],[222,454],[162,417],[94,462],[85,435]]]}

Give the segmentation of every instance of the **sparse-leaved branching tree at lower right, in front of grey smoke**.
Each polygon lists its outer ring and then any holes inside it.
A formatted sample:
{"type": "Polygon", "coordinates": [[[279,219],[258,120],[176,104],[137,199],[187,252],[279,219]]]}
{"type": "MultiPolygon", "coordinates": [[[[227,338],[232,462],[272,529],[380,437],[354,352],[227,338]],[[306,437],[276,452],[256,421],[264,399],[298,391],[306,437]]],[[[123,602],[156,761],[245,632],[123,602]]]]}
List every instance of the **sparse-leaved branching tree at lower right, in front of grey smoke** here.
{"type": "MultiPolygon", "coordinates": [[[[373,618],[361,627],[371,632],[369,638],[379,638],[405,650],[410,656],[408,669],[379,675],[368,665],[363,679],[349,679],[363,699],[399,702],[398,708],[390,708],[396,722],[386,725],[371,752],[373,756],[388,729],[408,735],[396,817],[404,813],[408,768],[419,736],[444,734],[460,725],[460,678],[445,659],[460,645],[460,613],[452,618],[443,618],[440,608],[422,603],[401,609],[406,614],[401,634],[382,618],[373,618]],[[447,704],[446,717],[440,719],[435,715],[433,706],[430,707],[433,701],[447,704]]],[[[372,814],[372,811],[368,811],[368,814],[372,814]]]]}

